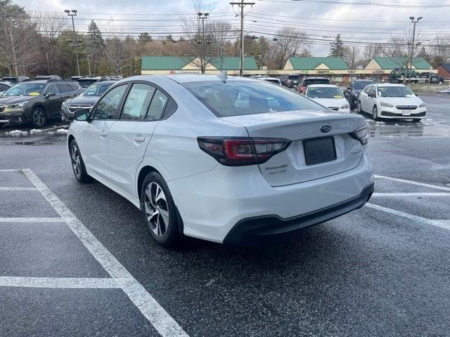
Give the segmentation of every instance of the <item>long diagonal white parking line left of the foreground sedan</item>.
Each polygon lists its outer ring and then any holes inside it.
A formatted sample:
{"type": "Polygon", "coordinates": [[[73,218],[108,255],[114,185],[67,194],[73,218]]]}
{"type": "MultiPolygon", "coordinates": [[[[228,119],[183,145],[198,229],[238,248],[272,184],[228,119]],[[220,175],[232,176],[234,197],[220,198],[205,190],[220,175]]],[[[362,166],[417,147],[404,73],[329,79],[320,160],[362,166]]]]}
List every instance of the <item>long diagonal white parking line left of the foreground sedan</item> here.
{"type": "Polygon", "coordinates": [[[23,169],[32,184],[37,187],[44,198],[49,201],[53,209],[68,224],[72,232],[79,238],[98,263],[108,272],[111,277],[118,279],[122,284],[121,289],[127,294],[131,302],[141,311],[153,327],[162,335],[167,337],[184,336],[188,334],[178,323],[165,311],[153,296],[131,275],[127,269],[113,256],[108,249],[87,229],[86,226],[75,216],[70,209],[53,194],[49,187],[34,174],[30,169],[23,169]]]}

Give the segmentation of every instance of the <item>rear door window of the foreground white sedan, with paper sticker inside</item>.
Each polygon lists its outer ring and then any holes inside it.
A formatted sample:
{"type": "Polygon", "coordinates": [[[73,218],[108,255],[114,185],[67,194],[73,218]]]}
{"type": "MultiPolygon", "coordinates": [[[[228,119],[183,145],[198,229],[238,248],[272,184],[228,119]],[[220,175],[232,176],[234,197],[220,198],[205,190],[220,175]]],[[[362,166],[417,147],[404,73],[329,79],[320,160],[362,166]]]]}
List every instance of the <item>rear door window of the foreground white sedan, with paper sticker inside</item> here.
{"type": "Polygon", "coordinates": [[[155,93],[155,88],[148,84],[135,83],[125,100],[120,119],[143,120],[155,93]]]}

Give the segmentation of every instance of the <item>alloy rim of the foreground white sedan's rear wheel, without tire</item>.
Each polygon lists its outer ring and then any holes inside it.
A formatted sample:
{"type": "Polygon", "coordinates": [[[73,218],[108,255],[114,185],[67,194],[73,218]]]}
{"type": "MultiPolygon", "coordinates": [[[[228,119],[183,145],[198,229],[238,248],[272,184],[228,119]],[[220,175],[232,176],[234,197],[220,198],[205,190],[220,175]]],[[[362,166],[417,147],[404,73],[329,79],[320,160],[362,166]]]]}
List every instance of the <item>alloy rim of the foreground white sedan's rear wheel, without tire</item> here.
{"type": "Polygon", "coordinates": [[[154,182],[148,184],[144,205],[150,229],[158,237],[164,237],[169,228],[169,206],[160,185],[154,182]]]}

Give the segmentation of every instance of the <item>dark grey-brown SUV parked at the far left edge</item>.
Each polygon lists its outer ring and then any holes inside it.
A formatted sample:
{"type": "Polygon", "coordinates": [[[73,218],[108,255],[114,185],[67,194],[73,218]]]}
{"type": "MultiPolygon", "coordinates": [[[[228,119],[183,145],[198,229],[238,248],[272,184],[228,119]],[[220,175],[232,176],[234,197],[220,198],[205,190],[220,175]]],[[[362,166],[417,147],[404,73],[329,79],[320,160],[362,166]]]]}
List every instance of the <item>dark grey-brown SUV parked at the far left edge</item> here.
{"type": "Polygon", "coordinates": [[[44,126],[51,118],[60,118],[64,100],[82,93],[73,82],[56,80],[26,81],[11,87],[0,97],[0,124],[31,122],[44,126]]]}

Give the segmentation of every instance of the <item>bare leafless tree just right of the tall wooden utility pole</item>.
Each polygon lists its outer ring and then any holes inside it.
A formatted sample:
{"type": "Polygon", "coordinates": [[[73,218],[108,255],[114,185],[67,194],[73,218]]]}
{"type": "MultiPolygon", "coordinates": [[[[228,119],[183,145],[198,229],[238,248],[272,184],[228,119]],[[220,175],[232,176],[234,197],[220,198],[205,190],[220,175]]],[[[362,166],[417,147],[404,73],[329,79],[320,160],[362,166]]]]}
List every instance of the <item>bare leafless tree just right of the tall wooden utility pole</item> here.
{"type": "Polygon", "coordinates": [[[300,29],[285,26],[278,30],[274,46],[275,53],[272,57],[276,67],[283,69],[288,58],[297,55],[302,48],[309,46],[308,36],[300,29]]]}

